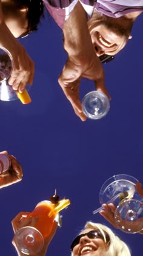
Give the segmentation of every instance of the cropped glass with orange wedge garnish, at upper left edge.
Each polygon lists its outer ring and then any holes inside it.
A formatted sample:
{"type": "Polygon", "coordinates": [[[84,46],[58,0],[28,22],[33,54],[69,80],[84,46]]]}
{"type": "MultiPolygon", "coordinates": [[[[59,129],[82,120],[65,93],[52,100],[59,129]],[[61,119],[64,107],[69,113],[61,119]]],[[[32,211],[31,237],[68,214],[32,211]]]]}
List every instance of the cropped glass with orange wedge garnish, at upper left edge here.
{"type": "Polygon", "coordinates": [[[13,58],[9,51],[5,48],[0,48],[0,100],[15,101],[20,99],[23,104],[31,102],[30,96],[27,93],[30,86],[27,85],[27,90],[23,93],[13,90],[12,85],[8,84],[8,78],[12,73],[13,58]]]}

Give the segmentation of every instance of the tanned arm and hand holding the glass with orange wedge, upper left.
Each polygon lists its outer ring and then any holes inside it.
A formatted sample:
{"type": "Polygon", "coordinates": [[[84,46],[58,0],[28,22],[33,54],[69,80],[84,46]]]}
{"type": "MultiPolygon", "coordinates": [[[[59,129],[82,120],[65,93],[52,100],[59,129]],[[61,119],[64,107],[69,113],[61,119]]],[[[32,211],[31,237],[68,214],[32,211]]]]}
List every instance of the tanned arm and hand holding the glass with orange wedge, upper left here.
{"type": "Polygon", "coordinates": [[[32,85],[34,63],[28,56],[25,48],[16,40],[5,24],[0,0],[0,48],[6,48],[13,57],[13,71],[8,80],[14,90],[24,91],[27,84],[32,85]]]}

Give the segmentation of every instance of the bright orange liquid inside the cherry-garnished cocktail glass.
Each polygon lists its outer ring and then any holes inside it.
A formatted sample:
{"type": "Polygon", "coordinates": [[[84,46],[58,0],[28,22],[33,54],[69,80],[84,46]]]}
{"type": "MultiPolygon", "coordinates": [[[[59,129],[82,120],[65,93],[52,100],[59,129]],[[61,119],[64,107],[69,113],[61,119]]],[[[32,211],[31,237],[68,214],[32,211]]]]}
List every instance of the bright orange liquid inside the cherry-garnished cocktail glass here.
{"type": "Polygon", "coordinates": [[[57,215],[54,211],[55,205],[50,201],[42,201],[36,205],[35,209],[32,213],[30,213],[29,217],[38,217],[36,221],[35,228],[41,232],[43,238],[47,237],[52,231],[53,221],[57,215]],[[49,213],[52,213],[52,216],[49,216],[49,213]]]}

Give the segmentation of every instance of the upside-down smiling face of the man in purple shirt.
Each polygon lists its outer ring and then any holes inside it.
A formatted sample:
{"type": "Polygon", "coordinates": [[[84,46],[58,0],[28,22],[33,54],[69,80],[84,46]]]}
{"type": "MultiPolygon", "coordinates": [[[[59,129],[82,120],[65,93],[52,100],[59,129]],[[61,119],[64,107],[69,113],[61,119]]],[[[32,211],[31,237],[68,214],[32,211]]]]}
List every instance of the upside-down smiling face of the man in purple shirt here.
{"type": "Polygon", "coordinates": [[[130,38],[131,24],[124,18],[110,18],[95,12],[90,21],[88,29],[96,54],[115,55],[130,38]]]}

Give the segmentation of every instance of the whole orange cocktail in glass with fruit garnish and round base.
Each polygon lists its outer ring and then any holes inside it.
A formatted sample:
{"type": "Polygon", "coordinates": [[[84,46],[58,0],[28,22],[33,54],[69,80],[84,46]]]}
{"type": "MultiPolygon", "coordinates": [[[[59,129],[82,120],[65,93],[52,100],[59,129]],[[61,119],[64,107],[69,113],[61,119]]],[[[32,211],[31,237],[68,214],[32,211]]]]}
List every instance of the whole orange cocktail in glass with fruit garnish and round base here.
{"type": "Polygon", "coordinates": [[[52,232],[53,222],[60,210],[70,204],[68,199],[62,199],[58,204],[50,201],[39,202],[27,218],[35,218],[33,226],[25,226],[15,233],[15,243],[23,254],[36,254],[41,251],[44,239],[52,232]],[[56,206],[57,205],[57,206],[56,206]]]}

